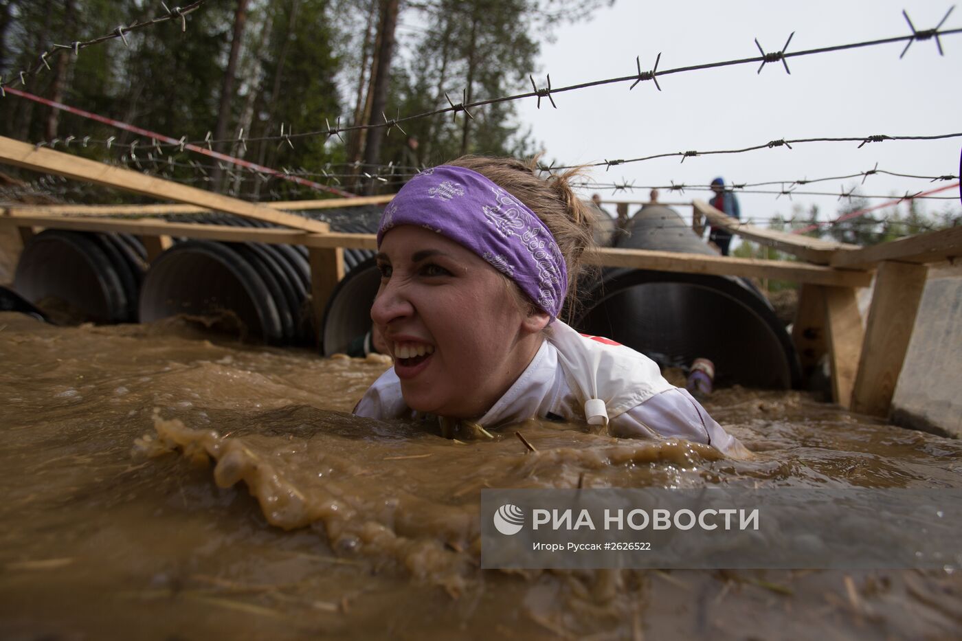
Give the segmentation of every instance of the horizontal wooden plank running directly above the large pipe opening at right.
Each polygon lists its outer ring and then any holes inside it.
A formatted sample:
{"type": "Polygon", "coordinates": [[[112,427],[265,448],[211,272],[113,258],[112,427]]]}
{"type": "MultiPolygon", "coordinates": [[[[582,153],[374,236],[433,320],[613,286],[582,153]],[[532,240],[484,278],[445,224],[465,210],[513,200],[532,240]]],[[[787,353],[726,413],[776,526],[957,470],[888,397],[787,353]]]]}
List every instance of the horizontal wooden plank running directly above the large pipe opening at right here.
{"type": "Polygon", "coordinates": [[[872,276],[867,271],[833,269],[791,261],[769,261],[757,258],[734,258],[707,254],[682,254],[649,249],[602,247],[585,256],[591,265],[657,269],[684,273],[708,273],[792,280],[798,283],[868,287],[872,276]]]}

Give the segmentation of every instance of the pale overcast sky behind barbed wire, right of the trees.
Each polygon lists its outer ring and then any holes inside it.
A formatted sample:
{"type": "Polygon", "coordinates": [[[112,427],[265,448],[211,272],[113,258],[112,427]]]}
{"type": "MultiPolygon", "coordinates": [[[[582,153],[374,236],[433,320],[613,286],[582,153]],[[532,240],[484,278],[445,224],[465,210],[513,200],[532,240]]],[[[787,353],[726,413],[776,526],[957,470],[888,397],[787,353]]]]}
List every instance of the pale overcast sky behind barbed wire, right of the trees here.
{"type": "MultiPolygon", "coordinates": [[[[561,87],[651,68],[658,52],[660,69],[749,58],[759,55],[753,38],[766,51],[778,51],[793,31],[789,51],[892,38],[910,33],[904,8],[919,30],[934,27],[949,2],[920,0],[805,0],[747,2],[690,0],[641,2],[618,0],[595,12],[593,19],[559,27],[553,43],[543,43],[540,74],[551,74],[561,87]]],[[[957,9],[943,29],[962,27],[957,9]]],[[[942,38],[940,57],[934,39],[914,41],[899,60],[904,42],[803,56],[780,63],[743,64],[673,74],[628,90],[630,83],[554,96],[558,109],[542,100],[521,101],[519,115],[544,145],[547,159],[565,165],[635,158],[663,152],[731,149],[777,139],[937,135],[962,131],[962,34],[942,38]]],[[[716,176],[728,182],[814,179],[879,169],[919,175],[958,174],[962,138],[944,141],[884,141],[866,144],[812,142],[737,155],[658,159],[595,168],[601,182],[635,181],[637,185],[706,184],[716,176]]],[[[858,180],[830,181],[799,190],[838,193],[858,180]]],[[[875,174],[861,188],[866,194],[918,192],[948,182],[929,183],[875,174]]],[[[786,185],[786,187],[789,187],[786,185]]],[[[775,189],[759,188],[759,189],[775,189]]],[[[614,193],[606,198],[643,199],[647,190],[614,193]]],[[[954,200],[929,200],[928,212],[959,209],[954,200]]],[[[686,192],[682,199],[706,197],[686,192]]],[[[663,200],[678,199],[664,194],[663,200]]],[[[836,196],[742,194],[743,218],[790,216],[794,204],[813,203],[823,219],[834,218],[836,196]]],[[[873,200],[873,203],[882,202],[873,200]]],[[[685,208],[681,213],[690,216],[685,208]]]]}

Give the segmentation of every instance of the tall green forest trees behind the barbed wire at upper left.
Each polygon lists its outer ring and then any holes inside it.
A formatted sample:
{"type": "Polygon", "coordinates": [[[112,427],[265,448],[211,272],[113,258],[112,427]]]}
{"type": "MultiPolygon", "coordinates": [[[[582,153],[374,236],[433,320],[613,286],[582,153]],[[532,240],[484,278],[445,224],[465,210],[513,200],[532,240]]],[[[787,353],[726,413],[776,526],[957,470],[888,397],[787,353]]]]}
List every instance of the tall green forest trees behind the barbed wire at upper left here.
{"type": "MultiPolygon", "coordinates": [[[[582,19],[604,1],[402,2],[400,22],[423,24],[424,29],[396,33],[389,117],[446,107],[445,92],[461,102],[465,89],[468,100],[525,90],[528,73],[535,71],[539,41],[550,38],[554,25],[582,19]]],[[[238,0],[212,0],[190,13],[184,33],[180,22],[172,20],[129,33],[126,45],[117,38],[84,48],[79,56],[58,54],[51,60],[62,61],[64,73],[43,70],[28,78],[25,89],[173,139],[202,141],[217,130],[221,117],[220,91],[239,6],[238,0]]],[[[379,0],[248,0],[236,82],[221,122],[228,138],[242,129],[247,141],[226,141],[218,150],[266,167],[315,173],[344,162],[340,138],[297,135],[324,131],[339,115],[342,125],[360,124],[353,122],[354,103],[359,88],[367,91],[371,64],[369,50],[362,55],[363,34],[369,17],[377,14],[371,8],[377,6],[379,0]],[[291,144],[277,139],[282,123],[285,132],[293,134],[291,144]],[[257,140],[266,137],[272,140],[257,140]]],[[[30,67],[38,52],[54,42],[97,38],[115,25],[150,19],[162,11],[159,3],[144,0],[0,0],[0,74],[10,78],[30,67]]],[[[467,129],[464,114],[456,120],[439,115],[404,123],[420,142],[417,153],[395,129],[382,148],[381,163],[437,163],[464,151],[530,155],[535,145],[530,132],[519,127],[515,110],[510,102],[472,110],[467,129]]],[[[23,98],[0,100],[0,115],[4,136],[61,144],[68,136],[76,141],[89,137],[92,144],[75,143],[71,152],[197,187],[247,198],[318,195],[290,181],[259,178],[234,167],[218,170],[211,158],[173,147],[158,150],[149,139],[79,115],[55,114],[23,98]],[[113,140],[110,148],[103,143],[108,139],[113,140]],[[138,146],[131,153],[134,141],[138,146]],[[205,167],[190,165],[196,163],[205,167]],[[215,185],[211,174],[218,172],[226,179],[215,185]]],[[[366,120],[380,121],[380,114],[366,120]]],[[[24,175],[28,180],[36,177],[24,175]]],[[[94,190],[86,197],[97,202],[116,198],[131,196],[94,190]]]]}

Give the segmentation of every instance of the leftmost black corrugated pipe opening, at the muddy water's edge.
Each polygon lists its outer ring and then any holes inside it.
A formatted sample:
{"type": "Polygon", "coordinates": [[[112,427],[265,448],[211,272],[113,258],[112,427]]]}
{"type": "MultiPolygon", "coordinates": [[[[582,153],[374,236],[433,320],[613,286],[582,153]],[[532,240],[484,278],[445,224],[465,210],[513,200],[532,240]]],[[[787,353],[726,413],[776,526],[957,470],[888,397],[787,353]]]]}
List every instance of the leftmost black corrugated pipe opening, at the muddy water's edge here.
{"type": "Polygon", "coordinates": [[[13,289],[59,322],[137,322],[146,250],[129,234],[47,229],[27,242],[13,289]]]}

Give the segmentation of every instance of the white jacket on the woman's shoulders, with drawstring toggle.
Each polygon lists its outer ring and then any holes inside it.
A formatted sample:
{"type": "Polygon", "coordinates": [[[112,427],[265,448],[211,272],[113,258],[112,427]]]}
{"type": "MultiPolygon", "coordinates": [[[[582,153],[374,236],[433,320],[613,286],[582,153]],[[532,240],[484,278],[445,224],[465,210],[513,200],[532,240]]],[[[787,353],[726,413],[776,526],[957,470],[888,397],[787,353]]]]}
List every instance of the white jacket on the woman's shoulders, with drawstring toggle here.
{"type": "MultiPolygon", "coordinates": [[[[546,333],[528,367],[477,423],[495,427],[550,414],[607,424],[612,436],[682,438],[734,456],[747,454],[695,398],[665,380],[646,355],[583,336],[562,321],[552,322],[546,333]]],[[[405,418],[411,412],[393,368],[374,381],[354,409],[355,415],[372,419],[405,418]]]]}

